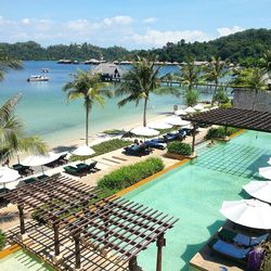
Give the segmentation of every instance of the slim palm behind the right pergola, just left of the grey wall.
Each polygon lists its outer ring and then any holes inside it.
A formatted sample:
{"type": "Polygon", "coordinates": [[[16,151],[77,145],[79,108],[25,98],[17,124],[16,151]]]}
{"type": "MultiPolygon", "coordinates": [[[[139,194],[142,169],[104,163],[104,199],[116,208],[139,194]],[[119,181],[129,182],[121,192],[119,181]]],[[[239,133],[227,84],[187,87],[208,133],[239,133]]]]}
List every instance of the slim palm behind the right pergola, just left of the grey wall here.
{"type": "Polygon", "coordinates": [[[211,98],[211,104],[215,102],[219,79],[224,77],[229,70],[227,69],[227,61],[222,61],[220,56],[212,56],[206,67],[206,80],[215,82],[215,91],[211,98]]]}

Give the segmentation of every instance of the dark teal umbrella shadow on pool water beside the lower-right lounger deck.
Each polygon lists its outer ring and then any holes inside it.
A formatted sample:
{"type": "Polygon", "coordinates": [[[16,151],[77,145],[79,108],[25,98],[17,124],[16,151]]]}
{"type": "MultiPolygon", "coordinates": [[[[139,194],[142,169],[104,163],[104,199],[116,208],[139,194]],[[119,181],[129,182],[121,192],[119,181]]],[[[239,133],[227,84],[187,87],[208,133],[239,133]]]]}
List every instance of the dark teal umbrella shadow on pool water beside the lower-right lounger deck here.
{"type": "MultiPolygon", "coordinates": [[[[206,229],[208,230],[210,236],[212,236],[220,227],[224,223],[223,220],[217,220],[212,224],[209,224],[206,229]]],[[[198,243],[198,244],[188,244],[185,251],[180,256],[183,261],[185,262],[185,266],[180,269],[182,271],[189,270],[189,262],[190,260],[205,246],[205,244],[208,242],[208,240],[198,243]]]]}

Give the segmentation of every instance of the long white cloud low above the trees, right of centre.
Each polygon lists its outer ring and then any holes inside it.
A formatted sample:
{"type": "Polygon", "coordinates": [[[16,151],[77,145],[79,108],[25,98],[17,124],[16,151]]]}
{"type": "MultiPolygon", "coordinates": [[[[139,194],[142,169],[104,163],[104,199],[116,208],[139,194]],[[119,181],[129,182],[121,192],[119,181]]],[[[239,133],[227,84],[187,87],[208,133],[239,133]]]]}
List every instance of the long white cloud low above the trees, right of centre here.
{"type": "Polygon", "coordinates": [[[181,39],[185,41],[205,41],[211,37],[201,30],[177,30],[177,31],[159,31],[149,29],[145,34],[134,34],[132,40],[138,44],[151,44],[155,47],[165,46],[167,42],[177,42],[181,39]]]}

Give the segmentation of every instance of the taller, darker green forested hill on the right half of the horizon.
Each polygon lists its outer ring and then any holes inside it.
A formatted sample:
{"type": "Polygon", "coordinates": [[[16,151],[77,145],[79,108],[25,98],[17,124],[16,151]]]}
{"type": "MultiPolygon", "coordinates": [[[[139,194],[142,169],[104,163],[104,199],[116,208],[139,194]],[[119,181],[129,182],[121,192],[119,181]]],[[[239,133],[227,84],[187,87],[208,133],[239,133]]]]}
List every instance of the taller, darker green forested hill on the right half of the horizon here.
{"type": "Polygon", "coordinates": [[[212,55],[219,55],[222,60],[240,62],[250,57],[258,59],[270,49],[271,29],[248,29],[208,42],[168,42],[164,48],[153,50],[153,53],[159,56],[159,61],[182,62],[189,55],[197,61],[206,61],[212,55]]]}

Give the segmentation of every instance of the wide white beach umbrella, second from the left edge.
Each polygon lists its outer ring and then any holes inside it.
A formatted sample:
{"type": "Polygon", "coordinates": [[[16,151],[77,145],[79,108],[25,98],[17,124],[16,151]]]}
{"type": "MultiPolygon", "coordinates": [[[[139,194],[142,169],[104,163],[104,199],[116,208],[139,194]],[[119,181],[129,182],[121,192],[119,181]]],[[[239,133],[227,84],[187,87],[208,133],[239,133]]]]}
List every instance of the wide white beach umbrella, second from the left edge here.
{"type": "Polygon", "coordinates": [[[41,166],[41,171],[43,173],[43,165],[49,164],[53,160],[56,160],[62,154],[56,154],[53,152],[50,152],[44,155],[31,155],[26,157],[24,160],[21,162],[23,166],[28,166],[28,167],[37,167],[41,166]]]}

